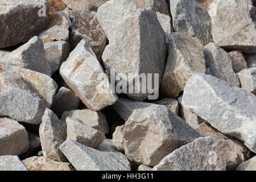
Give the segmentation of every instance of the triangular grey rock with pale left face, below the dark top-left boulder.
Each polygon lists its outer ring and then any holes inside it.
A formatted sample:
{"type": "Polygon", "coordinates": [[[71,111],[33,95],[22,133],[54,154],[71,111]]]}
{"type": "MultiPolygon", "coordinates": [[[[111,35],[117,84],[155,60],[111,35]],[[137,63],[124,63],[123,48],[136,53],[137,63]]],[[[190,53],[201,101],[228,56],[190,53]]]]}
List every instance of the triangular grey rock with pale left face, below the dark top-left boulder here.
{"type": "Polygon", "coordinates": [[[3,61],[20,68],[44,73],[48,76],[52,74],[44,53],[44,44],[37,36],[34,36],[26,44],[3,57],[3,61]]]}

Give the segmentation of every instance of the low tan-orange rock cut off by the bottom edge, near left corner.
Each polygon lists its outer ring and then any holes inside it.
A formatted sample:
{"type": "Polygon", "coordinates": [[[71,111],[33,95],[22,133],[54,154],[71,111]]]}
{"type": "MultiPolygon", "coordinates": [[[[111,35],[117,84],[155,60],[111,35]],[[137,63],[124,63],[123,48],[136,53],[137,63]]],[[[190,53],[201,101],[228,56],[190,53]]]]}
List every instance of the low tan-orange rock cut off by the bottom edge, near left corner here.
{"type": "Polygon", "coordinates": [[[71,164],[56,162],[43,156],[33,156],[22,162],[30,171],[73,171],[71,164]]]}

